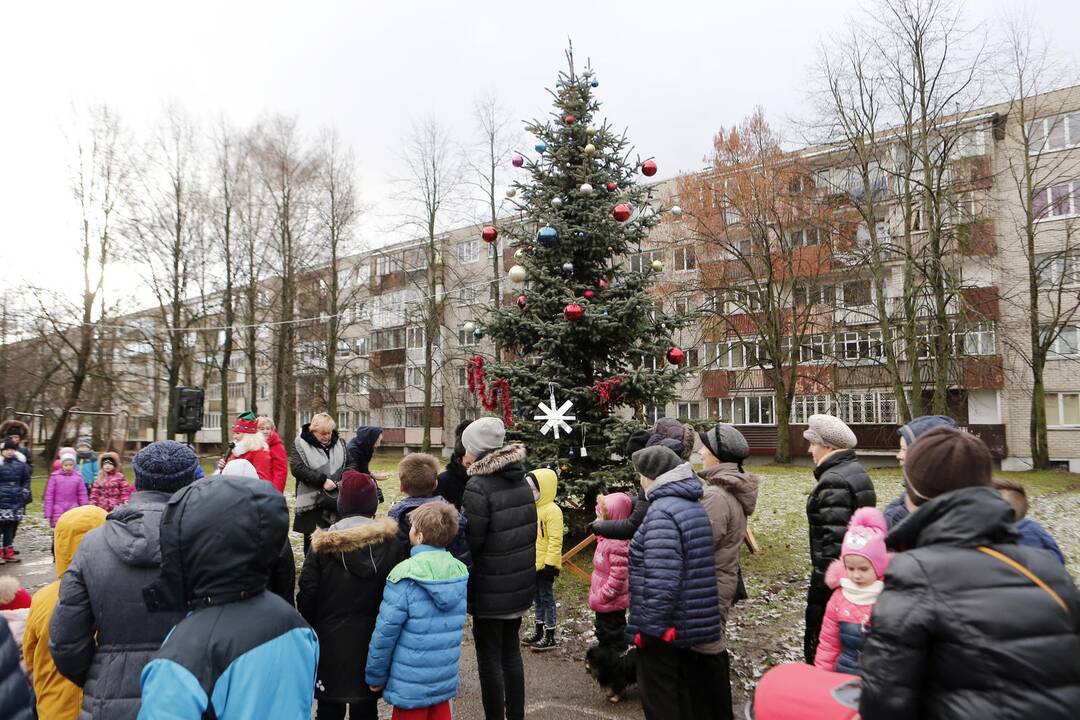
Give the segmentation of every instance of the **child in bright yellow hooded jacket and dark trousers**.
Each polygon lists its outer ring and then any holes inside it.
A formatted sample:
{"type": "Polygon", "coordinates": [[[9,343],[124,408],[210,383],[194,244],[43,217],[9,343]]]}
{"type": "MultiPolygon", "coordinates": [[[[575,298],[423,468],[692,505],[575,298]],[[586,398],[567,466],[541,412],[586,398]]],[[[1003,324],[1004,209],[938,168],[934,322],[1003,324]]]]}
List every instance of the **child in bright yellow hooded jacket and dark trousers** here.
{"type": "Polygon", "coordinates": [[[537,470],[525,476],[537,502],[537,595],[534,601],[537,629],[523,642],[538,652],[555,642],[555,578],[563,567],[563,511],[555,504],[558,478],[553,470],[537,470]]]}

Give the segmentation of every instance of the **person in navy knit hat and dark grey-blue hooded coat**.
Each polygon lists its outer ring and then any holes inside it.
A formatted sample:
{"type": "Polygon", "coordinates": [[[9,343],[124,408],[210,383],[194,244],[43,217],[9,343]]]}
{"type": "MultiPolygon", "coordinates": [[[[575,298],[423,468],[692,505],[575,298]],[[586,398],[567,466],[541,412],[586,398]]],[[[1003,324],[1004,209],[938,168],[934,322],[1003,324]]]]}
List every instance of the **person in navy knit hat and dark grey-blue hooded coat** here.
{"type": "Polygon", "coordinates": [[[165,503],[194,479],[199,458],[183,443],[160,440],[139,450],[132,465],[135,493],[83,539],[49,623],[56,668],[83,689],[80,720],[135,718],[138,674],[184,616],[183,610],[149,612],[143,589],[159,574],[165,503]]]}

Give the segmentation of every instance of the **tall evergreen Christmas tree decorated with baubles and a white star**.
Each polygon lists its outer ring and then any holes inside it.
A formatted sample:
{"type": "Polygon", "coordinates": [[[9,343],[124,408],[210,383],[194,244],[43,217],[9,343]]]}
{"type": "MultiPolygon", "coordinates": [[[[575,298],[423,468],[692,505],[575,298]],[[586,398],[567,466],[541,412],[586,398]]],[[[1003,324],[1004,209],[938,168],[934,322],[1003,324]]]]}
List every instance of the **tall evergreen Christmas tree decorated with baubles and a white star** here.
{"type": "Polygon", "coordinates": [[[509,237],[515,250],[516,302],[489,312],[480,331],[502,349],[483,375],[509,385],[510,437],[528,447],[530,465],[561,471],[564,493],[591,498],[632,481],[620,453],[651,424],[645,408],[673,398],[685,369],[672,332],[688,318],[654,309],[659,261],[631,262],[665,212],[638,184],[657,164],[631,161],[625,134],[598,114],[596,76],[575,70],[572,51],[567,60],[551,118],[527,125],[532,151],[513,158],[516,213],[485,228],[485,240],[509,237]]]}

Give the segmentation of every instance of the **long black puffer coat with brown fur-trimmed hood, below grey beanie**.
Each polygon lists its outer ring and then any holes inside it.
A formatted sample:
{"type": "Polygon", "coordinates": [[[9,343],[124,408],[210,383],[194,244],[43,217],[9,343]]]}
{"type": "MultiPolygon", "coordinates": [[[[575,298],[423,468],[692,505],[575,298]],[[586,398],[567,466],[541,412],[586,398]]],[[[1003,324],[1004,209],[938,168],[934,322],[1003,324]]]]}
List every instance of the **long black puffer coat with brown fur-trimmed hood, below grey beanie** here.
{"type": "Polygon", "coordinates": [[[537,506],[525,481],[525,448],[508,445],[469,467],[463,512],[473,566],[469,612],[524,615],[536,593],[537,506]]]}

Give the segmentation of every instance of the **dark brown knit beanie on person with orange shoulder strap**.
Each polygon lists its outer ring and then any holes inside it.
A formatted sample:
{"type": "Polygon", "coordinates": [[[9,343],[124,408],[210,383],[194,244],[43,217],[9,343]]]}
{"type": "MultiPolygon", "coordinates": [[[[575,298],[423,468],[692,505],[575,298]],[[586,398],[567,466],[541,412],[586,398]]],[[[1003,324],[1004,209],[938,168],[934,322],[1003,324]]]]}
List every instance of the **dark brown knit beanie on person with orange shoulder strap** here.
{"type": "Polygon", "coordinates": [[[923,433],[904,459],[904,478],[916,505],[961,488],[990,487],[993,473],[986,444],[946,425],[923,433]]]}

